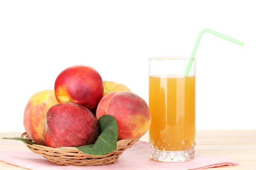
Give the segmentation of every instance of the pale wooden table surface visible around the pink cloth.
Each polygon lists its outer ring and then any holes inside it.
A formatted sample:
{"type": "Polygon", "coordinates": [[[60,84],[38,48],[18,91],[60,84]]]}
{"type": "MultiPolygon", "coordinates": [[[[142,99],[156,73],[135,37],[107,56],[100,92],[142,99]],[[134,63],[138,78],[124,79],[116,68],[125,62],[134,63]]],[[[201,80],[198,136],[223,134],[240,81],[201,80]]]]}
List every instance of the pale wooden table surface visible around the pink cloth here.
{"type": "MultiPolygon", "coordinates": [[[[17,137],[21,134],[22,132],[0,132],[0,138],[17,137]]],[[[140,140],[148,141],[148,134],[140,140]]],[[[0,140],[0,150],[29,151],[22,142],[12,140],[0,140]]],[[[209,170],[256,170],[256,130],[198,130],[195,153],[239,162],[239,166],[223,166],[209,170]]],[[[0,170],[27,169],[0,161],[0,170]]]]}

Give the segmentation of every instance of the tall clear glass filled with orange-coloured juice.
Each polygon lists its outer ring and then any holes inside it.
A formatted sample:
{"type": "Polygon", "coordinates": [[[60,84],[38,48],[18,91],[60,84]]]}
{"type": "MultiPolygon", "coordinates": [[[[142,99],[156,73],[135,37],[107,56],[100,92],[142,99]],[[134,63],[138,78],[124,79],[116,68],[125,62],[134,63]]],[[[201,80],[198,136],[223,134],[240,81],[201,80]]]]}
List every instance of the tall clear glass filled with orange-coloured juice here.
{"type": "Polygon", "coordinates": [[[194,157],[195,59],[149,59],[150,158],[181,162],[194,157]],[[193,60],[189,75],[188,62],[193,60]]]}

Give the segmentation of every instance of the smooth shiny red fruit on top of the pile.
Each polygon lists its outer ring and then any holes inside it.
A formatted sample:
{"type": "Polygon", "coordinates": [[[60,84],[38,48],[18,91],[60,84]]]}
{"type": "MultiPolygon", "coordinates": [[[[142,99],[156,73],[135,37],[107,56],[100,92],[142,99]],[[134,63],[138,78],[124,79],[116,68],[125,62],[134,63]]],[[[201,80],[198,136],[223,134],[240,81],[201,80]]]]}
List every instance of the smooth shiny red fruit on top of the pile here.
{"type": "Polygon", "coordinates": [[[89,110],[100,102],[104,92],[101,75],[84,65],[64,69],[57,76],[54,89],[58,102],[73,102],[89,110]]]}

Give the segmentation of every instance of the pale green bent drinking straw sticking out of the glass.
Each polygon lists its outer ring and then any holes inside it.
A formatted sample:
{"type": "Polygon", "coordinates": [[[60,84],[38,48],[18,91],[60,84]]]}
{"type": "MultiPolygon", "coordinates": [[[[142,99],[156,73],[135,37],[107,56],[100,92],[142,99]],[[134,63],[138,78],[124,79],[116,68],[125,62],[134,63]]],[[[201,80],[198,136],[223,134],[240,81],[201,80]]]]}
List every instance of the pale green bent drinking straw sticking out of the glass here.
{"type": "Polygon", "coordinates": [[[234,42],[234,43],[236,43],[236,44],[238,44],[238,45],[241,45],[241,46],[244,46],[244,45],[245,45],[244,42],[240,42],[240,41],[238,41],[238,40],[236,40],[236,39],[234,39],[234,38],[231,38],[231,37],[229,37],[229,36],[227,36],[227,35],[220,34],[220,33],[216,32],[216,31],[213,31],[213,30],[210,30],[210,29],[207,29],[207,28],[206,28],[206,29],[203,29],[203,30],[198,34],[198,36],[197,36],[196,43],[195,43],[195,45],[194,45],[192,54],[191,54],[191,56],[190,56],[190,59],[191,59],[191,60],[189,60],[189,63],[188,63],[187,69],[186,69],[185,76],[188,76],[188,74],[189,74],[190,68],[191,68],[192,63],[193,63],[193,58],[195,57],[195,53],[196,53],[196,51],[197,51],[197,48],[198,48],[198,45],[199,45],[199,42],[200,42],[200,40],[201,40],[201,37],[202,37],[202,34],[203,34],[203,33],[210,33],[210,34],[216,35],[216,36],[218,36],[218,37],[220,37],[220,38],[223,38],[223,39],[228,40],[228,41],[230,41],[230,42],[234,42]]]}

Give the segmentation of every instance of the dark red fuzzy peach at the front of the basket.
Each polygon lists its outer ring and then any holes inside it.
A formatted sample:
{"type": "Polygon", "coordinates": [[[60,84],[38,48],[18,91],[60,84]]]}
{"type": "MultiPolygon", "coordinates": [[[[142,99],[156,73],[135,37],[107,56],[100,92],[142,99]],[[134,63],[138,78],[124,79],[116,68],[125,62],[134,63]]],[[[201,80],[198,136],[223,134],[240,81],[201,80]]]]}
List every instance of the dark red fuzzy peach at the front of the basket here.
{"type": "Polygon", "coordinates": [[[51,107],[43,128],[49,147],[78,147],[94,144],[99,136],[98,121],[85,107],[64,102],[51,107]]]}

